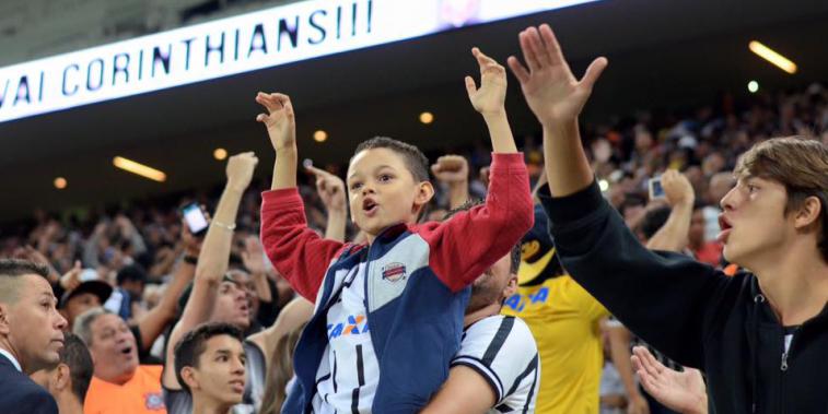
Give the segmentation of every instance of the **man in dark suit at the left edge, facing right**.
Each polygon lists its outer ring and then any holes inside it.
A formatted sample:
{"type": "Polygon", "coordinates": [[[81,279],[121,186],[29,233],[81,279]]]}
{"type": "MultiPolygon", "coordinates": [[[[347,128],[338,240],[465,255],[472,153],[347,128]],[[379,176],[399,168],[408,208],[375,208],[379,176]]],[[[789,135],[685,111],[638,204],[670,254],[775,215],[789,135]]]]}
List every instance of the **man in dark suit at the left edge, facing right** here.
{"type": "Polygon", "coordinates": [[[0,413],[57,414],[49,393],[28,378],[60,362],[66,319],[45,267],[0,259],[0,413]]]}

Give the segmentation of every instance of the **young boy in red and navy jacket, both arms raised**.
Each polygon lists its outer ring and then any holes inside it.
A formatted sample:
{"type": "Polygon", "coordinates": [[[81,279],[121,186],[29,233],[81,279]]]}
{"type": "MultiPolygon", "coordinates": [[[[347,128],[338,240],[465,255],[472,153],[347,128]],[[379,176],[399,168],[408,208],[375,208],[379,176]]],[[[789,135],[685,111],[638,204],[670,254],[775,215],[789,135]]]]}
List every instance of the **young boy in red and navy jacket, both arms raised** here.
{"type": "Polygon", "coordinates": [[[477,88],[466,87],[494,150],[485,205],[444,223],[416,224],[433,196],[415,146],[375,138],[357,147],[347,177],[349,208],[365,245],[326,240],[307,228],[296,191],[293,107],[259,94],[276,150],[272,191],[263,194],[268,257],[316,311],[294,357],[284,413],[412,413],[447,377],[459,348],[467,286],[532,226],[523,155],[503,107],[505,70],[477,49],[477,88]]]}

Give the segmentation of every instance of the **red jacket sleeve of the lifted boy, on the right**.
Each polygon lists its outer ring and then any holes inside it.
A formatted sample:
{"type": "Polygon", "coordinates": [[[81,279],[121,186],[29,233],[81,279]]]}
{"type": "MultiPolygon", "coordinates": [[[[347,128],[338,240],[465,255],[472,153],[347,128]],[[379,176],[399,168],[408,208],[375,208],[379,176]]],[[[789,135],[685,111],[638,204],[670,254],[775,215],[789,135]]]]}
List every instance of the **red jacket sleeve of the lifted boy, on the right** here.
{"type": "Polygon", "coordinates": [[[429,244],[431,269],[457,292],[509,253],[534,221],[523,154],[495,153],[485,204],[413,229],[429,244]]]}

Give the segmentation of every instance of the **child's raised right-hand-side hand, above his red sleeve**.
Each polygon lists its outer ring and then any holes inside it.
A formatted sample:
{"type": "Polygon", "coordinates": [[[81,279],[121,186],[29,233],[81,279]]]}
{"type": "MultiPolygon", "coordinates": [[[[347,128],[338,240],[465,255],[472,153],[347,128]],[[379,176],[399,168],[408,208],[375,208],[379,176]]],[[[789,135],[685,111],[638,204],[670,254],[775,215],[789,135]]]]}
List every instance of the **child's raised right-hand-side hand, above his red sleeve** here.
{"type": "Polygon", "coordinates": [[[494,59],[483,55],[478,48],[471,49],[471,55],[480,66],[480,87],[475,85],[471,76],[466,76],[466,92],[471,106],[482,115],[503,113],[506,100],[506,70],[494,59]]]}

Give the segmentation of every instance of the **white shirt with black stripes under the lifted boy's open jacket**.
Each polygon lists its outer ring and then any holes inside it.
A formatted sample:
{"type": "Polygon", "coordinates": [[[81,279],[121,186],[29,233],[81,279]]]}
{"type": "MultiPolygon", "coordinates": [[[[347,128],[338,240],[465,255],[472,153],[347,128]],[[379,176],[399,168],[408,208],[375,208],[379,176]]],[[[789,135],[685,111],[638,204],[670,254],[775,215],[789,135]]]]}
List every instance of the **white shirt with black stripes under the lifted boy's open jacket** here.
{"type": "Polygon", "coordinates": [[[328,345],[316,371],[315,414],[371,413],[380,364],[368,329],[365,265],[345,277],[327,315],[328,345]]]}

